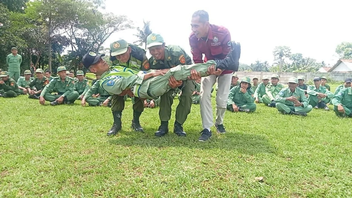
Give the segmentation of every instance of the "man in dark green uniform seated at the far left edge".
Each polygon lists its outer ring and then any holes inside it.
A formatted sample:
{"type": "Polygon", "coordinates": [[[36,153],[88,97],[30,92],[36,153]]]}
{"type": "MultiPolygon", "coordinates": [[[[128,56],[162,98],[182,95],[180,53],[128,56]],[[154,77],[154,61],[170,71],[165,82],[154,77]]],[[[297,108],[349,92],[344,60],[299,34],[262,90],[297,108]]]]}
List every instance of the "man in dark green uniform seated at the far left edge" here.
{"type": "Polygon", "coordinates": [[[8,72],[0,72],[0,97],[14,98],[20,94],[17,83],[8,72]]]}

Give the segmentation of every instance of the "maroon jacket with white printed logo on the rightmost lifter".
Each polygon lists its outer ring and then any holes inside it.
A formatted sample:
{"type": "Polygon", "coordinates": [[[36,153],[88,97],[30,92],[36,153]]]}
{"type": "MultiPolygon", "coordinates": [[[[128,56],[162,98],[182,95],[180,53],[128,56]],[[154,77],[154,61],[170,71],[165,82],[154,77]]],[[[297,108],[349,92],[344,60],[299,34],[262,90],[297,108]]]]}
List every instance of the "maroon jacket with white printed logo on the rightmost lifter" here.
{"type": "MultiPolygon", "coordinates": [[[[194,63],[203,62],[203,54],[205,54],[204,62],[214,60],[214,58],[224,59],[231,49],[230,32],[223,26],[210,24],[208,38],[197,38],[192,32],[189,36],[189,45],[193,55],[194,63]]],[[[233,73],[231,70],[224,70],[222,74],[233,73]]]]}

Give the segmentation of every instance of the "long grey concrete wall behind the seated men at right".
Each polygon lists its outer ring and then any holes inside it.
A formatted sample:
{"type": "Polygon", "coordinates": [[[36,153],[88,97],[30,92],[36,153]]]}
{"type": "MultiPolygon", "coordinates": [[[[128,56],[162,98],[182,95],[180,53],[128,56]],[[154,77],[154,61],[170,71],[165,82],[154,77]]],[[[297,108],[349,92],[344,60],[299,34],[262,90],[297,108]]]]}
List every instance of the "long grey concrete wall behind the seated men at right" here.
{"type": "Polygon", "coordinates": [[[290,73],[290,72],[236,72],[238,75],[239,80],[244,77],[248,76],[253,79],[254,76],[258,77],[259,82],[262,81],[264,75],[267,75],[271,78],[272,74],[278,74],[280,77],[281,83],[287,83],[290,77],[297,77],[297,76],[304,76],[305,80],[313,80],[316,76],[327,76],[337,81],[344,81],[346,78],[352,78],[352,72],[349,73],[340,73],[340,72],[331,72],[331,73],[290,73]]]}

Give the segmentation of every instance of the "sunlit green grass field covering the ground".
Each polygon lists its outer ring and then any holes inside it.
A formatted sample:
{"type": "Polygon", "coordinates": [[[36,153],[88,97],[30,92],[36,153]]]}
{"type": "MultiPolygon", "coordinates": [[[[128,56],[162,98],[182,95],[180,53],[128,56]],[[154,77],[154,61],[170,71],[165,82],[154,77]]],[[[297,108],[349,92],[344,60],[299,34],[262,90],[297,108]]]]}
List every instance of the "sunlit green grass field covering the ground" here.
{"type": "Polygon", "coordinates": [[[185,138],[154,136],[158,110],[142,114],[144,134],[133,132],[128,100],[123,131],[107,137],[106,107],[0,98],[0,197],[352,196],[352,119],[284,116],[260,104],[252,114],[226,112],[228,132],[202,143],[199,105],[185,138]]]}

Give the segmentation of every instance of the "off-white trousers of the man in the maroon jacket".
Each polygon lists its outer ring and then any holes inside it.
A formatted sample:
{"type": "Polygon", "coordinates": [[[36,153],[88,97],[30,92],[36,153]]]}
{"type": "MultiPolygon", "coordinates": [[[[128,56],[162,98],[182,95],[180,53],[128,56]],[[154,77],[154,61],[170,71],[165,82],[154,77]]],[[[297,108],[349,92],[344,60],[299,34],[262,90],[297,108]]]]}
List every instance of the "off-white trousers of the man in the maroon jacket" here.
{"type": "Polygon", "coordinates": [[[225,117],[227,106],[227,97],[230,92],[231,74],[224,74],[220,76],[210,75],[202,78],[200,88],[200,115],[202,117],[203,128],[210,128],[214,126],[213,122],[213,108],[210,98],[211,90],[218,78],[218,91],[216,92],[216,124],[222,124],[225,117]]]}

